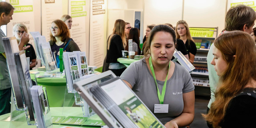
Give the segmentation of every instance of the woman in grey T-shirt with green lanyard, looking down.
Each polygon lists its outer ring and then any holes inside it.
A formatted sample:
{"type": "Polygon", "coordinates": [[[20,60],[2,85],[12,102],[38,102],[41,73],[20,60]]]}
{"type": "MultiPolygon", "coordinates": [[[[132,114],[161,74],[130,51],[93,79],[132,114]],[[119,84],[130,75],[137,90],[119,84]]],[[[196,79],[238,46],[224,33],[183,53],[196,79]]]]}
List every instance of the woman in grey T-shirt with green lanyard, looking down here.
{"type": "Polygon", "coordinates": [[[185,128],[194,119],[195,87],[188,70],[171,61],[175,41],[171,27],[155,26],[148,36],[148,51],[143,59],[132,63],[120,78],[152,113],[155,104],[168,108],[154,113],[166,128],[185,128]]]}

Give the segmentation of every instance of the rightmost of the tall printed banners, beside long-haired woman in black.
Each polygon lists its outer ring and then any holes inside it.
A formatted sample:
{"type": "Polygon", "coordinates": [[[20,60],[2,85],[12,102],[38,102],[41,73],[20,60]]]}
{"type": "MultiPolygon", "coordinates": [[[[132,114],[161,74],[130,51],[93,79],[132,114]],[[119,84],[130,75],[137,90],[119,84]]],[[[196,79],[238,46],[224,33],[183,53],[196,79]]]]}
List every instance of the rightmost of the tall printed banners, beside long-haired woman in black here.
{"type": "Polygon", "coordinates": [[[90,11],[90,50],[89,65],[103,65],[106,40],[106,10],[107,0],[92,0],[90,11]]]}

